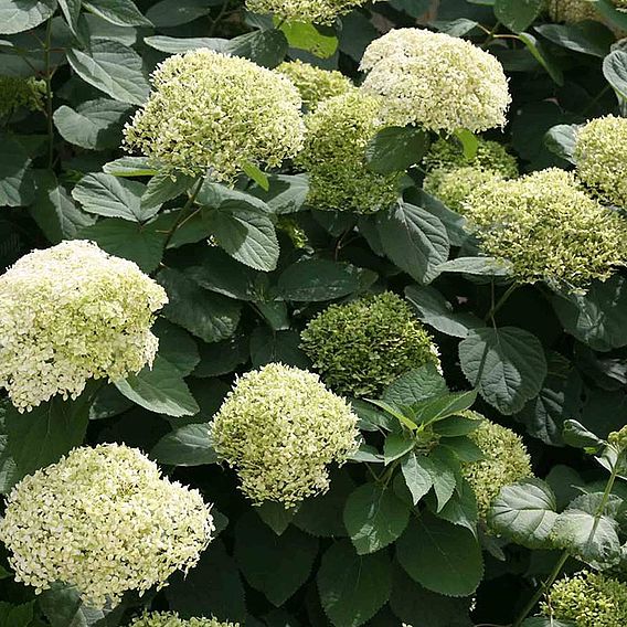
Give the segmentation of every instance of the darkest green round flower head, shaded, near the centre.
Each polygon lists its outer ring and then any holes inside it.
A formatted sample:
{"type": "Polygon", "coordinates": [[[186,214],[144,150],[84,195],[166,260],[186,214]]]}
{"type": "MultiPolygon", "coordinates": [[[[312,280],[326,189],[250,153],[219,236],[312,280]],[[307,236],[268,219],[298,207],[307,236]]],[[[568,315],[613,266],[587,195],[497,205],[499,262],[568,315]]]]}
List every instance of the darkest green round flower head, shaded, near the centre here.
{"type": "Polygon", "coordinates": [[[376,396],[408,370],[439,366],[431,336],[390,291],[327,307],[300,338],[322,381],[339,394],[376,396]]]}

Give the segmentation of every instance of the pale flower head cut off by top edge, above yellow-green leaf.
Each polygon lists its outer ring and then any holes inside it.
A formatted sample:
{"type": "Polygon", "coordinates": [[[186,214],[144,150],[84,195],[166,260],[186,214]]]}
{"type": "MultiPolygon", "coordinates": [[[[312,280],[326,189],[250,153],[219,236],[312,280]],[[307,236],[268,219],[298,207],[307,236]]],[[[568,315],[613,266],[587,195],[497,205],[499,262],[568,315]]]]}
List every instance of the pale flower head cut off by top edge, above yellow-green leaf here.
{"type": "Polygon", "coordinates": [[[366,0],[246,0],[246,9],[253,13],[273,13],[279,20],[288,22],[332,24],[336,18],[365,2],[366,0]]]}

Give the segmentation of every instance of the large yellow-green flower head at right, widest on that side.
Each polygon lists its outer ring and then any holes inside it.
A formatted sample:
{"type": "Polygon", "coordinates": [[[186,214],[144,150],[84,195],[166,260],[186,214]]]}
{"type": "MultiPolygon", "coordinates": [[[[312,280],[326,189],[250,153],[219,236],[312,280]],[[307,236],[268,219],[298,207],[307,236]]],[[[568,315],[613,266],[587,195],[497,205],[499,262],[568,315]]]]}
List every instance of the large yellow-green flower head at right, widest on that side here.
{"type": "Polygon", "coordinates": [[[627,222],[557,168],[481,185],[463,210],[483,252],[510,261],[520,283],[582,289],[627,261],[627,222]]]}

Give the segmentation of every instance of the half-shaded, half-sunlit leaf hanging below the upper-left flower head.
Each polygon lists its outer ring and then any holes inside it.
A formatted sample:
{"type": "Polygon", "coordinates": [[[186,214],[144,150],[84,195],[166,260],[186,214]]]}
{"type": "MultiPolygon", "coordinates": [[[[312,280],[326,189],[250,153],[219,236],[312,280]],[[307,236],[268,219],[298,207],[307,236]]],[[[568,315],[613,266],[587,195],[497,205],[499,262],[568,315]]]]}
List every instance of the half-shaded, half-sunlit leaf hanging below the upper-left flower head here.
{"type": "Polygon", "coordinates": [[[268,215],[242,208],[236,201],[226,201],[219,209],[203,212],[203,222],[217,245],[234,259],[258,270],[276,268],[278,240],[268,215]]]}

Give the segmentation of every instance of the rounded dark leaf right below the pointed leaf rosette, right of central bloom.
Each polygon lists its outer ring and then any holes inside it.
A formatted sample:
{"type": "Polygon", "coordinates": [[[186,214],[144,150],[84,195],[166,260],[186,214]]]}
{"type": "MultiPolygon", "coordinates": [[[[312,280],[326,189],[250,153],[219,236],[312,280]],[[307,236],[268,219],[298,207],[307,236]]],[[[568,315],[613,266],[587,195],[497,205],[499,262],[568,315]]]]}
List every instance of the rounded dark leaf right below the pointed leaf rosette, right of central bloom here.
{"type": "Polygon", "coordinates": [[[358,555],[387,546],[408,522],[407,506],[392,490],[374,483],[357,488],[344,507],[344,525],[358,555]]]}

